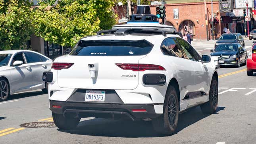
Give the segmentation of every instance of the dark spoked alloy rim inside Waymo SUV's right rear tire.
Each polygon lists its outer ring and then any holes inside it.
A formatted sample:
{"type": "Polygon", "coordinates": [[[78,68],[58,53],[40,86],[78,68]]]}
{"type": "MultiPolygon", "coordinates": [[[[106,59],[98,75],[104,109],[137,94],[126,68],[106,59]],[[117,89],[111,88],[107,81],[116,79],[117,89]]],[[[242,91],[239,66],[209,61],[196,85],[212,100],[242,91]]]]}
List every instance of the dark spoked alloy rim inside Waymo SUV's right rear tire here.
{"type": "Polygon", "coordinates": [[[176,115],[177,115],[177,103],[175,96],[171,94],[168,100],[168,120],[171,127],[175,125],[176,115]]]}

